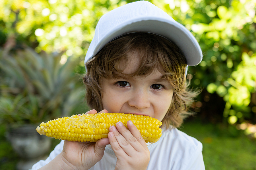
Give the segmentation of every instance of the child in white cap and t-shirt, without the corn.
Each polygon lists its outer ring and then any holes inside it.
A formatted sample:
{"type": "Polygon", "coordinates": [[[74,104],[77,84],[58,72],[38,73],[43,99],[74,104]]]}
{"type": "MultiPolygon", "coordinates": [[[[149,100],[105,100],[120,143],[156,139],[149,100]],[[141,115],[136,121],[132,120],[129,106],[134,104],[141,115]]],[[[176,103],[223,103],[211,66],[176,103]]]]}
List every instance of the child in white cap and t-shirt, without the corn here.
{"type": "Polygon", "coordinates": [[[101,113],[154,117],[162,137],[149,145],[131,121],[129,130],[118,122],[96,143],[61,141],[32,169],[204,170],[202,144],[176,128],[197,95],[187,90],[187,65],[201,60],[193,35],[147,1],[103,15],[85,57],[87,104],[101,113]]]}

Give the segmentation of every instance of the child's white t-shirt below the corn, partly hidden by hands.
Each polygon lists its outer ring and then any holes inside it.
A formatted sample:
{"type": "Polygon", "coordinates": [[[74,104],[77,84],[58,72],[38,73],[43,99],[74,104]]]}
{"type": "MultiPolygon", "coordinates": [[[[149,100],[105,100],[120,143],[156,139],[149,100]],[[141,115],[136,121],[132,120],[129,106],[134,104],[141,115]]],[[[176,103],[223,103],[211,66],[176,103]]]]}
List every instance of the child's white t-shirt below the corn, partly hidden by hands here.
{"type": "MultiPolygon", "coordinates": [[[[32,170],[39,169],[53,160],[63,149],[61,141],[44,161],[34,164],[32,170]]],[[[203,145],[197,139],[170,127],[162,131],[156,143],[149,144],[150,161],[147,170],[205,170],[202,155],[203,145]]],[[[110,145],[106,146],[103,158],[90,170],[114,170],[116,156],[110,145]]]]}

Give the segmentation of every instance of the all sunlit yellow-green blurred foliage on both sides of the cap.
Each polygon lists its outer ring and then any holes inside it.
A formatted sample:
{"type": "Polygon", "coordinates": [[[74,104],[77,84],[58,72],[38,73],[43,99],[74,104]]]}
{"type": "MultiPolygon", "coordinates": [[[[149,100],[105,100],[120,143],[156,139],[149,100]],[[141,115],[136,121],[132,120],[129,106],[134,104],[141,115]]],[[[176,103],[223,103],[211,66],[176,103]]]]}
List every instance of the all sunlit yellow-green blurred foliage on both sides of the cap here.
{"type": "MultiPolygon", "coordinates": [[[[83,58],[100,16],[131,1],[2,0],[0,37],[16,35],[37,52],[83,58]]],[[[203,61],[189,68],[193,87],[203,87],[193,104],[202,117],[230,124],[256,123],[256,38],[254,0],[152,0],[195,35],[203,61]],[[211,109],[205,109],[210,106],[211,109]],[[216,109],[218,108],[218,109],[216,109]],[[205,110],[205,111],[203,111],[205,110]],[[213,112],[215,111],[215,112],[213,112]],[[206,116],[205,116],[206,114],[206,116]]],[[[80,69],[77,67],[77,69],[80,69]]]]}

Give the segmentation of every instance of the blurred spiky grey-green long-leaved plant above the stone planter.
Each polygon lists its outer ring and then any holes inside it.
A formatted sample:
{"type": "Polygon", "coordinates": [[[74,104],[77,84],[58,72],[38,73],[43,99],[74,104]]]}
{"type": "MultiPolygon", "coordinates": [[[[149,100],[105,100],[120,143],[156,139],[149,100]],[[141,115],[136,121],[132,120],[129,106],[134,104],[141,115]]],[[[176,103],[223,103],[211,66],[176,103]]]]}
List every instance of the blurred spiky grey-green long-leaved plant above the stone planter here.
{"type": "Polygon", "coordinates": [[[39,123],[72,115],[83,102],[75,73],[79,61],[62,54],[18,49],[12,38],[0,50],[0,123],[39,123]]]}

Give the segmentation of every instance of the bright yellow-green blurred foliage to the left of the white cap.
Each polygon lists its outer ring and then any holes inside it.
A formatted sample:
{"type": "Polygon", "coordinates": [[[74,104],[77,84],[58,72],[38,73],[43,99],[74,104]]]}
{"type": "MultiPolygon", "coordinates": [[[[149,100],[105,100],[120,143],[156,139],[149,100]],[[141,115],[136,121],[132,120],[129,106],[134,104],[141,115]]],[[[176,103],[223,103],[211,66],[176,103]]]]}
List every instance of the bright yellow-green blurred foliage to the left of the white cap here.
{"type": "Polygon", "coordinates": [[[5,23],[2,30],[37,40],[38,52],[67,50],[68,56],[84,55],[99,18],[126,2],[116,3],[119,1],[5,0],[0,4],[0,18],[5,23]]]}

